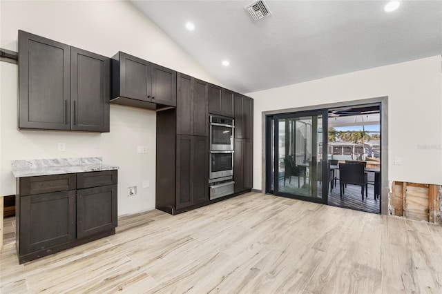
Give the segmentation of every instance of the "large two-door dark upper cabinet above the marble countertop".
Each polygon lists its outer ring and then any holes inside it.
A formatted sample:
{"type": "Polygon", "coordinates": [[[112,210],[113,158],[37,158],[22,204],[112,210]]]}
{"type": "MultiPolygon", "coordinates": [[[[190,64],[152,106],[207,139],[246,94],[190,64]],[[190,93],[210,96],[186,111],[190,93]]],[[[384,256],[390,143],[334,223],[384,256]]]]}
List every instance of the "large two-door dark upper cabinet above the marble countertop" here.
{"type": "Polygon", "coordinates": [[[19,128],[109,131],[110,59],[19,30],[19,128]]]}

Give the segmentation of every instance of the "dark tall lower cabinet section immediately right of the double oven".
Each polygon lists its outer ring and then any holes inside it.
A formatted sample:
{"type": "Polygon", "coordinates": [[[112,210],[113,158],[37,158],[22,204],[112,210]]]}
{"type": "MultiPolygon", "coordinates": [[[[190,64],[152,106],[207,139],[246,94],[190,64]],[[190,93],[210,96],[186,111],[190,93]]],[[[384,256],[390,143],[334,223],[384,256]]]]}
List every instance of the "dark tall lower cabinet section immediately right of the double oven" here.
{"type": "Polygon", "coordinates": [[[235,139],[235,154],[233,155],[233,180],[235,193],[251,190],[253,185],[252,140],[235,139]]]}

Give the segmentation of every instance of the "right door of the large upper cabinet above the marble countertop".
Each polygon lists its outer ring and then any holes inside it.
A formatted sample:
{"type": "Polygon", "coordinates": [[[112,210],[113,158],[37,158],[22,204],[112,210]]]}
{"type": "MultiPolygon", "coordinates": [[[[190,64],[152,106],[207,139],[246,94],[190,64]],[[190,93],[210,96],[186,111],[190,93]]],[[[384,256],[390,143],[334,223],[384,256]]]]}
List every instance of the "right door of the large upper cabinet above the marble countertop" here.
{"type": "Polygon", "coordinates": [[[71,129],[109,131],[110,59],[71,48],[71,129]]]}

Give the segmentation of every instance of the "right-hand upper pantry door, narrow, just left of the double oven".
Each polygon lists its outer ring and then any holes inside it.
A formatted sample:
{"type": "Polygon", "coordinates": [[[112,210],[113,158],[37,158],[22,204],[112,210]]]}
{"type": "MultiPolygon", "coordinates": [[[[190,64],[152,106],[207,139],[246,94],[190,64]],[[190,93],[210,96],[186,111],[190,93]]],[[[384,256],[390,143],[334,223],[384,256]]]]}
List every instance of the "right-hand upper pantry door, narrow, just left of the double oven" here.
{"type": "Polygon", "coordinates": [[[209,136],[209,83],[193,80],[193,135],[209,136]]]}

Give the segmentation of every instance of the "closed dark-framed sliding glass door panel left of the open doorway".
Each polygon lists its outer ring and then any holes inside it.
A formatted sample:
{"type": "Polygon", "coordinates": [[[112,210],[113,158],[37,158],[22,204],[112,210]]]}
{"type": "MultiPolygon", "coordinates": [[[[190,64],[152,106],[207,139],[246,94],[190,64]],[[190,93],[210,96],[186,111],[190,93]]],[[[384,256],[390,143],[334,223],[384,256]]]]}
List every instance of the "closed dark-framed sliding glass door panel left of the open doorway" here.
{"type": "Polygon", "coordinates": [[[267,117],[267,192],[327,203],[327,110],[267,117]]]}

